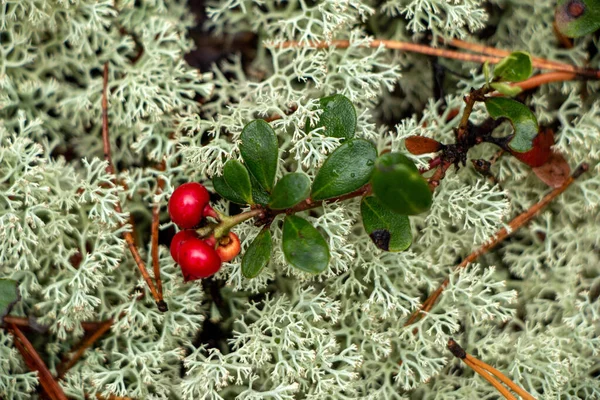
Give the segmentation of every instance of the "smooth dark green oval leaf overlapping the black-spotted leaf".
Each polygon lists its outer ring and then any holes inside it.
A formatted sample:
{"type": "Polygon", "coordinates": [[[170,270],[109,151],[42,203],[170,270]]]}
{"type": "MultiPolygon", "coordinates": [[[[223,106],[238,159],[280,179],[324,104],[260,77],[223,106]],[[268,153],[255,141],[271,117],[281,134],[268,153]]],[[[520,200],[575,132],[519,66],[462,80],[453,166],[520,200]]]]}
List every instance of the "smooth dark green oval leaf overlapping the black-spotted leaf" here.
{"type": "Polygon", "coordinates": [[[386,153],[375,163],[373,194],[392,211],[416,215],[431,207],[431,190],[415,164],[400,153],[386,153]]]}

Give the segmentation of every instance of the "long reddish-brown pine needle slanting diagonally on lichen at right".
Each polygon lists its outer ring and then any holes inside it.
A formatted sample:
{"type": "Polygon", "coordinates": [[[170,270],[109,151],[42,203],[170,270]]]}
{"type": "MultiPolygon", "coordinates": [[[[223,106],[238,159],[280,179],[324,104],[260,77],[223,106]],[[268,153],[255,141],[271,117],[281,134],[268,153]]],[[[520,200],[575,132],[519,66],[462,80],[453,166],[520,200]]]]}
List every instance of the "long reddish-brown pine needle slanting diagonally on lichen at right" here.
{"type": "MultiPolygon", "coordinates": [[[[575,181],[575,179],[579,178],[581,176],[581,174],[583,174],[584,172],[586,172],[588,170],[588,168],[589,168],[589,166],[585,163],[579,165],[579,167],[577,167],[575,172],[573,172],[573,174],[568,179],[566,179],[565,182],[563,182],[563,184],[560,187],[554,189],[553,191],[548,193],[546,196],[544,196],[544,198],[542,200],[540,200],[538,203],[531,206],[527,211],[525,211],[525,212],[519,214],[517,217],[515,217],[512,221],[509,222],[508,227],[504,227],[504,228],[500,229],[496,233],[496,235],[494,235],[494,237],[491,238],[490,241],[486,242],[481,247],[479,247],[477,250],[475,250],[474,252],[469,254],[459,265],[457,265],[454,268],[454,271],[458,271],[462,268],[467,267],[469,264],[471,264],[472,262],[477,260],[477,258],[479,258],[479,256],[487,253],[488,251],[490,251],[491,249],[493,249],[494,247],[496,247],[497,245],[502,243],[507,237],[509,237],[511,234],[513,234],[514,232],[519,230],[519,228],[523,227],[525,224],[527,224],[529,221],[531,221],[552,200],[554,200],[557,196],[559,196],[565,190],[567,190],[567,188],[569,186],[571,186],[571,184],[575,181]]],[[[440,284],[440,286],[438,286],[438,288],[431,295],[429,295],[427,300],[425,300],[425,302],[423,302],[421,307],[408,318],[408,320],[406,321],[404,326],[412,325],[415,322],[419,321],[421,318],[423,318],[423,316],[433,308],[433,306],[435,305],[435,303],[437,302],[437,300],[441,296],[442,292],[444,291],[444,289],[446,289],[446,287],[448,286],[449,283],[450,283],[449,277],[444,279],[444,281],[440,284]]]]}

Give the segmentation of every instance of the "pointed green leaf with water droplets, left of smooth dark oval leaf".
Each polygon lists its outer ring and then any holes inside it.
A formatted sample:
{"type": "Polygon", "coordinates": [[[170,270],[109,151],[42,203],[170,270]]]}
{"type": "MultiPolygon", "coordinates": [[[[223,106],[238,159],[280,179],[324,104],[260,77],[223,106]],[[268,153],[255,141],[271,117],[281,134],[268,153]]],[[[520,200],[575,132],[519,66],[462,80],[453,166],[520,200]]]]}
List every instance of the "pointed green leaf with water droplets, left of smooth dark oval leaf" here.
{"type": "Polygon", "coordinates": [[[313,182],[311,198],[324,200],[350,193],[369,181],[377,149],[364,139],[345,142],[327,157],[313,182]]]}

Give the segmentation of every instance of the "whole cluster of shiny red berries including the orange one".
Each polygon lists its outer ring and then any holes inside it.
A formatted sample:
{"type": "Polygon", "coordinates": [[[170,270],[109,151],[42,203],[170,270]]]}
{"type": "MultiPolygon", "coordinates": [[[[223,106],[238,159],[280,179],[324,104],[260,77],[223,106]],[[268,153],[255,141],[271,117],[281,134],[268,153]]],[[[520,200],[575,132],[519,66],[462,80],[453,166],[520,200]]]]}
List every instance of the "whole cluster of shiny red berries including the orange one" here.
{"type": "Polygon", "coordinates": [[[233,232],[217,240],[214,235],[201,238],[194,230],[206,216],[218,219],[209,201],[208,191],[199,183],[184,183],[169,199],[169,216],[181,229],[171,241],[171,257],[186,282],[216,274],[222,262],[240,252],[240,239],[233,232]]]}

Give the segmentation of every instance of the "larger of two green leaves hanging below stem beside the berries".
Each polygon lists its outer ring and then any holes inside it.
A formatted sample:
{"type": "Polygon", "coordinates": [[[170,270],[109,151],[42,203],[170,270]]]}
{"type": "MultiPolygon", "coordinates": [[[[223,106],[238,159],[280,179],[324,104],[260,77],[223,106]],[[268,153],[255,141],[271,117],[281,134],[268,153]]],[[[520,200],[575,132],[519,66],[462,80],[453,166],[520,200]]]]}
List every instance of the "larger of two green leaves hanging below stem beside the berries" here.
{"type": "Polygon", "coordinates": [[[295,215],[283,222],[282,249],[287,262],[304,272],[317,274],[329,264],[329,246],[321,233],[295,215]]]}

